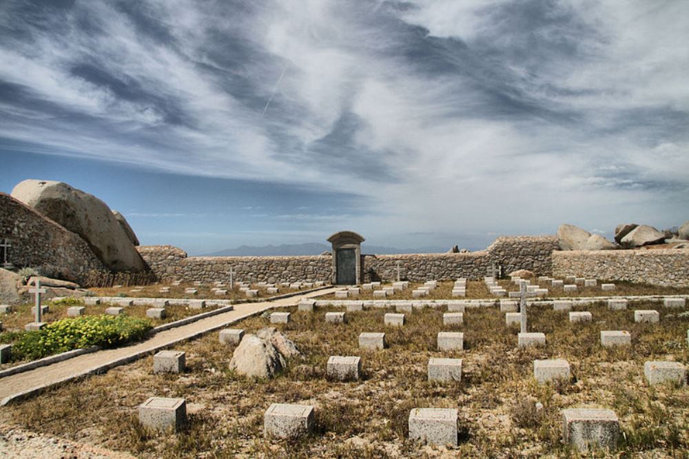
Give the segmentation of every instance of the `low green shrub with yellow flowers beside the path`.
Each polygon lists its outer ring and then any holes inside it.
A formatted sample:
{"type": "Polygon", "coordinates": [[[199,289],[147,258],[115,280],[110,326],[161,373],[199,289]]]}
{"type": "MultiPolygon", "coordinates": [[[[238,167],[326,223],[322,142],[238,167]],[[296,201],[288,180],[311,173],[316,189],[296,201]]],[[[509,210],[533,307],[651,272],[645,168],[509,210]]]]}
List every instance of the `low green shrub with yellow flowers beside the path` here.
{"type": "Polygon", "coordinates": [[[141,340],[151,328],[149,320],[125,315],[64,318],[23,334],[12,346],[12,359],[34,360],[90,346],[116,347],[141,340]]]}

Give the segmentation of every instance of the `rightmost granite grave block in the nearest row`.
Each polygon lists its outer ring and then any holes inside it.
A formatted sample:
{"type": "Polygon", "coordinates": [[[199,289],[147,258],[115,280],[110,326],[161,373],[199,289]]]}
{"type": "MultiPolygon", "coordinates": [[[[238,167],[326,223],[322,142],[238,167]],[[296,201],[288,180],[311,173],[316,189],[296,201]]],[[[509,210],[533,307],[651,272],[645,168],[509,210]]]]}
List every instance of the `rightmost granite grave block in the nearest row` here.
{"type": "Polygon", "coordinates": [[[562,410],[565,443],[581,451],[590,447],[613,450],[619,437],[619,420],[611,409],[564,409],[562,410]]]}

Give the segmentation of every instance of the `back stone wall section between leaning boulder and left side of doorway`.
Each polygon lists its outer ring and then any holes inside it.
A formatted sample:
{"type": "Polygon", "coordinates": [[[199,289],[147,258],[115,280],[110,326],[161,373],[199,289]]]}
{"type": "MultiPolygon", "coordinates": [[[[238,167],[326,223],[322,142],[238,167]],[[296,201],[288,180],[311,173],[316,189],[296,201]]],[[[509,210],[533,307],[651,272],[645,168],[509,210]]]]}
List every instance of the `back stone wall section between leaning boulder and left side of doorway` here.
{"type": "Polygon", "coordinates": [[[144,261],[163,280],[212,283],[234,281],[268,283],[330,282],[330,256],[191,256],[171,245],[137,247],[144,261]]]}

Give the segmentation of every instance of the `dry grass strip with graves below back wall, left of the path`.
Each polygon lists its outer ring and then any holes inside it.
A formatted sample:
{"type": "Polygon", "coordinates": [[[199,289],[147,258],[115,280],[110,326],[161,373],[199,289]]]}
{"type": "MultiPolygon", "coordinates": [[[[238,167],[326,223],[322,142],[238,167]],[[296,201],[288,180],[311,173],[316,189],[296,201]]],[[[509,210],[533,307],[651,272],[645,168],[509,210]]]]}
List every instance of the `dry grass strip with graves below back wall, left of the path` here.
{"type": "MultiPolygon", "coordinates": [[[[190,283],[183,283],[181,285],[170,285],[169,283],[156,283],[152,285],[139,285],[136,287],[108,287],[108,288],[92,288],[90,289],[96,296],[118,296],[124,295],[129,298],[214,298],[218,300],[247,300],[247,295],[240,292],[238,287],[230,288],[229,285],[225,287],[218,287],[220,289],[227,289],[227,295],[217,296],[211,289],[215,285],[194,285],[190,283]],[[162,287],[169,287],[169,292],[160,292],[162,287]],[[193,288],[198,290],[196,295],[185,294],[185,289],[193,288]],[[141,289],[141,292],[132,292],[132,289],[141,289]]],[[[256,298],[270,298],[271,296],[287,294],[291,292],[298,292],[296,289],[289,289],[287,287],[278,287],[280,290],[278,294],[269,294],[266,287],[251,286],[252,289],[258,290],[258,297],[256,298]]],[[[256,300],[256,298],[251,298],[256,300]]]]}

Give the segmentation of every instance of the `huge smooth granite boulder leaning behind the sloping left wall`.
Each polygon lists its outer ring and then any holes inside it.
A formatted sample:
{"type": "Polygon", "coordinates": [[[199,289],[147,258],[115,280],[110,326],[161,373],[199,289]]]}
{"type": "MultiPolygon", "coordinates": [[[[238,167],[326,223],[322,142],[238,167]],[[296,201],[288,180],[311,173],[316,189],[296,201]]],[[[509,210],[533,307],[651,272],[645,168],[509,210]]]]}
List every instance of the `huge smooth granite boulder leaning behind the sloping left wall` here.
{"type": "Polygon", "coordinates": [[[14,187],[12,197],[79,234],[109,269],[132,272],[147,269],[110,208],[96,196],[67,183],[25,180],[14,187]]]}

